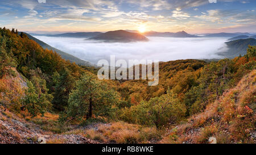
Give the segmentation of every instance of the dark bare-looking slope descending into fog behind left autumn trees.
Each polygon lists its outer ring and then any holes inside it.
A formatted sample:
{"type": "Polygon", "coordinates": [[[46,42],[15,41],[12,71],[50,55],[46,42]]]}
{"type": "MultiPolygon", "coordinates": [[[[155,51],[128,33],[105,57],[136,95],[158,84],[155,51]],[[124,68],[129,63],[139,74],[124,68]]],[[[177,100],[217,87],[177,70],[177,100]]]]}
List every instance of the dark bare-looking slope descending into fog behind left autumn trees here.
{"type": "MultiPolygon", "coordinates": [[[[19,32],[20,33],[20,32],[19,32]]],[[[91,64],[90,62],[88,61],[84,61],[84,60],[81,60],[80,58],[77,58],[75,56],[72,56],[72,55],[69,55],[68,53],[65,53],[63,51],[60,51],[59,49],[57,48],[54,48],[54,47],[51,47],[50,45],[44,43],[43,41],[39,40],[39,39],[36,39],[35,37],[29,35],[28,33],[25,33],[23,32],[24,34],[26,34],[28,36],[29,39],[31,40],[34,40],[36,41],[36,43],[38,43],[39,45],[41,45],[44,49],[49,49],[49,50],[52,50],[52,51],[55,51],[56,53],[59,53],[59,55],[66,59],[66,60],[69,60],[71,62],[75,62],[76,64],[78,65],[82,65],[82,66],[94,66],[93,64],[91,64]]]]}

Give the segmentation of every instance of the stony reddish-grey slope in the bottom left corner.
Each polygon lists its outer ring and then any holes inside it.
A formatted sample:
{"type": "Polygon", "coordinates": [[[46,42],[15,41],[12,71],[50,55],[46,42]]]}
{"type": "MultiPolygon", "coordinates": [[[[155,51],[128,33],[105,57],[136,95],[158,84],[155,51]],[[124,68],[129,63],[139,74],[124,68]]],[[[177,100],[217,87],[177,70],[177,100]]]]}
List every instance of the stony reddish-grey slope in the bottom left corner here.
{"type": "Polygon", "coordinates": [[[0,110],[0,143],[69,143],[69,144],[95,144],[81,135],[57,135],[46,132],[33,123],[26,122],[10,112],[0,110]]]}

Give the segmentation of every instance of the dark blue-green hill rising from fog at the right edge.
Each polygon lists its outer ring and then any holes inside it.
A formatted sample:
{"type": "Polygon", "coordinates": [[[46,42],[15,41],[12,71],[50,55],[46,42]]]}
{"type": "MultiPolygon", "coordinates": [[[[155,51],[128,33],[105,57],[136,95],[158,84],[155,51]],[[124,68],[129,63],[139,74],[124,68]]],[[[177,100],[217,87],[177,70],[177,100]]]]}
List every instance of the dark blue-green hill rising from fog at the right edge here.
{"type": "Polygon", "coordinates": [[[228,51],[218,53],[218,55],[225,56],[227,58],[234,58],[237,56],[243,56],[246,54],[246,49],[248,45],[255,46],[256,39],[249,38],[249,39],[238,39],[233,41],[228,41],[225,43],[228,46],[228,51]]]}

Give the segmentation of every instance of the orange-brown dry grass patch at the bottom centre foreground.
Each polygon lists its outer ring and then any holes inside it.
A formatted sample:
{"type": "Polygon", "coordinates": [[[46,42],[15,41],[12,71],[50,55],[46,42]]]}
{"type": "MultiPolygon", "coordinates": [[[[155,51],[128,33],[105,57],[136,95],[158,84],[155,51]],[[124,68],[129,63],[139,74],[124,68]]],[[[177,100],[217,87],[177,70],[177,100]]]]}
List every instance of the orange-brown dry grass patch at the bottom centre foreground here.
{"type": "Polygon", "coordinates": [[[141,127],[124,122],[101,124],[97,131],[94,129],[86,131],[86,137],[93,140],[125,144],[155,143],[162,139],[162,134],[163,131],[155,127],[141,127]]]}

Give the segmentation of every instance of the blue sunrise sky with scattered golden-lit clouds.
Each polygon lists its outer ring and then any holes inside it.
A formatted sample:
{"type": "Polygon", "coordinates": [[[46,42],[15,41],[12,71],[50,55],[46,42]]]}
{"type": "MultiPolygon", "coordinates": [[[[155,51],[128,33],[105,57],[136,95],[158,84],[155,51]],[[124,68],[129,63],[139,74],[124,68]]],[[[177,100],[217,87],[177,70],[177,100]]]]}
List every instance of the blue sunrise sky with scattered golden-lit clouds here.
{"type": "Polygon", "coordinates": [[[255,0],[0,0],[0,27],[26,32],[256,32],[255,0]]]}

